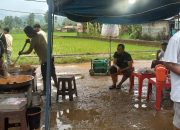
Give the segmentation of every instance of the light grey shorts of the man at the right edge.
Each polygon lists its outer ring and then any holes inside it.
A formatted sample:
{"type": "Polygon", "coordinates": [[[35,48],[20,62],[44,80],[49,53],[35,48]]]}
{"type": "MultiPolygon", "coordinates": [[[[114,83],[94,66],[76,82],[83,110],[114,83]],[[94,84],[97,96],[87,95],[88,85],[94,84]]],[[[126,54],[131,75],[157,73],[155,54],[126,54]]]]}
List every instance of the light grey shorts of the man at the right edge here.
{"type": "Polygon", "coordinates": [[[180,102],[174,102],[173,125],[180,129],[180,102]]]}

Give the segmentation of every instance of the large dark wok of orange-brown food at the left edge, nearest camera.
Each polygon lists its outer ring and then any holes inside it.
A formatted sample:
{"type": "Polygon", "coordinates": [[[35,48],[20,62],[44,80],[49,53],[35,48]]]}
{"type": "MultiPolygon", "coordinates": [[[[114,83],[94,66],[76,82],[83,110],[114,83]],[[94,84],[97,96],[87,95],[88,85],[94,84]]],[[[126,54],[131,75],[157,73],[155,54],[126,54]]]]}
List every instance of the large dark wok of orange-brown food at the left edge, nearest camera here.
{"type": "Polygon", "coordinates": [[[32,80],[34,79],[31,75],[11,75],[8,77],[0,77],[0,91],[20,91],[27,90],[32,80]]]}

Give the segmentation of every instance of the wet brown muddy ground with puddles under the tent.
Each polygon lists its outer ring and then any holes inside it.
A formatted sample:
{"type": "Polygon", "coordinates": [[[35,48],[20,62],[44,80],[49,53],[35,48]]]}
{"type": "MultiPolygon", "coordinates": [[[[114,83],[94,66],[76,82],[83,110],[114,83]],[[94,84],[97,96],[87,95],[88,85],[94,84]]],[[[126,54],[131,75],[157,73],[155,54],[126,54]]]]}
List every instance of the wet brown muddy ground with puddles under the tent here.
{"type": "MultiPolygon", "coordinates": [[[[151,61],[135,61],[135,68],[149,67],[151,61]]],[[[155,101],[146,101],[147,80],[143,97],[137,98],[137,79],[133,93],[128,93],[129,80],[122,89],[109,90],[109,76],[90,76],[90,63],[57,65],[57,75],[75,74],[78,97],[56,102],[52,90],[51,130],[172,130],[173,109],[169,99],[164,100],[159,112],[155,101]]],[[[39,75],[39,74],[38,74],[39,75]]],[[[119,79],[121,76],[119,76],[119,79]]],[[[40,79],[38,79],[40,81],[40,79]]],[[[40,82],[38,83],[38,85],[40,82]]],[[[42,113],[42,125],[44,124],[42,113]]],[[[43,127],[43,126],[42,126],[43,127]]]]}

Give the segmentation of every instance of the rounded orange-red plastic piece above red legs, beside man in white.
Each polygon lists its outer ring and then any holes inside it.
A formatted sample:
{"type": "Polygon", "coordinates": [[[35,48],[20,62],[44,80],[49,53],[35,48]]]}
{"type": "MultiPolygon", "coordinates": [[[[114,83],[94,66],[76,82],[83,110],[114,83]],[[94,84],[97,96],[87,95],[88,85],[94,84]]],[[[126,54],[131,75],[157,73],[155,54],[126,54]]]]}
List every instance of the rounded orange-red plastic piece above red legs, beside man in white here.
{"type": "Polygon", "coordinates": [[[157,81],[166,81],[168,70],[164,65],[158,64],[155,67],[156,80],[157,81]]]}

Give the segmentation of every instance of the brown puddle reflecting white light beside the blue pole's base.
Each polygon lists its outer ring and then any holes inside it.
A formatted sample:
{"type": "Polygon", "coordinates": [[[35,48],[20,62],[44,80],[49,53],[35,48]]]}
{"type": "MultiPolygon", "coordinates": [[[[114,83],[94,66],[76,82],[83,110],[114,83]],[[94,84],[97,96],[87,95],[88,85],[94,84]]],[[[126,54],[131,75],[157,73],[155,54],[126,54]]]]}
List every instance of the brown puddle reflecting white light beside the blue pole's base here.
{"type": "MultiPolygon", "coordinates": [[[[72,124],[76,125],[90,122],[96,122],[95,117],[100,113],[96,110],[81,110],[81,109],[64,109],[56,112],[51,112],[51,130],[68,130],[72,129],[72,124]],[[63,120],[63,121],[62,121],[63,120]],[[80,123],[81,122],[81,123],[80,123]]],[[[83,125],[83,124],[81,124],[83,125]]]]}

